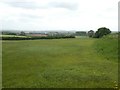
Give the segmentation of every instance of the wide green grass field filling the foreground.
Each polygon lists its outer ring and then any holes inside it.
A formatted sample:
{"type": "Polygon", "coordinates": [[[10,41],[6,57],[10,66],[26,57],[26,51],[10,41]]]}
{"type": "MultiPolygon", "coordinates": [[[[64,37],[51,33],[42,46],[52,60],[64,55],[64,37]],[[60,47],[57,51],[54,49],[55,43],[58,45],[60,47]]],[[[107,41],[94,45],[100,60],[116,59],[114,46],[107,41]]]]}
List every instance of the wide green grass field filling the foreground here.
{"type": "Polygon", "coordinates": [[[109,48],[117,47],[114,40],[77,38],[3,41],[2,44],[2,85],[5,88],[117,86],[117,49],[109,48]],[[106,41],[109,43],[100,43],[106,41]],[[104,54],[99,51],[101,48],[106,48],[104,54]]]}

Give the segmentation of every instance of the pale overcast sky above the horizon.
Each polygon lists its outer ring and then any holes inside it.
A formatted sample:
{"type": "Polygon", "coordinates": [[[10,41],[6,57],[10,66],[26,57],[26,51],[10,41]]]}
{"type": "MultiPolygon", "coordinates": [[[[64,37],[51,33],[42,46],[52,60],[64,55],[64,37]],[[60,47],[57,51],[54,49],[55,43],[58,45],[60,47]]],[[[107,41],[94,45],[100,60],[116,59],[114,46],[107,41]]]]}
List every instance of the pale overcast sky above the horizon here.
{"type": "Polygon", "coordinates": [[[118,30],[119,0],[0,0],[0,30],[118,30]]]}

